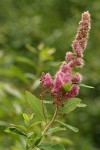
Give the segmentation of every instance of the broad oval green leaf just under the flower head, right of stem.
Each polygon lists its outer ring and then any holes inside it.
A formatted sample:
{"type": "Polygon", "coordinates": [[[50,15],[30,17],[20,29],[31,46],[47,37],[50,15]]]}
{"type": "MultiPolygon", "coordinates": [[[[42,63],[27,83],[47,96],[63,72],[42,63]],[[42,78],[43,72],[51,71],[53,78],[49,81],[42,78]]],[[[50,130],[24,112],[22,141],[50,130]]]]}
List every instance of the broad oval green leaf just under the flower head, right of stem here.
{"type": "Polygon", "coordinates": [[[60,112],[62,114],[68,114],[71,111],[73,111],[77,105],[81,102],[79,98],[71,98],[68,99],[65,103],[64,106],[61,108],[60,112]]]}

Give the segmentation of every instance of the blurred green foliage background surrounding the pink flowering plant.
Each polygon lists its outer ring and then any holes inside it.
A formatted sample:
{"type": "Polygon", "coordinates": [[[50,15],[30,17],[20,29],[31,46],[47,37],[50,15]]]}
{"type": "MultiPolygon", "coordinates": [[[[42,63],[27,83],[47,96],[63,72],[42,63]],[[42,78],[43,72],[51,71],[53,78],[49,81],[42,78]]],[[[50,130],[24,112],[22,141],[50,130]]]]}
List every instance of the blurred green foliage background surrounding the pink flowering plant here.
{"type": "Polygon", "coordinates": [[[92,28],[80,71],[84,83],[95,89],[81,88],[79,97],[88,106],[65,116],[79,133],[62,132],[58,141],[68,150],[100,149],[100,1],[0,0],[0,150],[20,150],[24,139],[4,129],[23,123],[21,113],[28,111],[25,90],[39,96],[41,72],[54,75],[87,10],[92,28]]]}

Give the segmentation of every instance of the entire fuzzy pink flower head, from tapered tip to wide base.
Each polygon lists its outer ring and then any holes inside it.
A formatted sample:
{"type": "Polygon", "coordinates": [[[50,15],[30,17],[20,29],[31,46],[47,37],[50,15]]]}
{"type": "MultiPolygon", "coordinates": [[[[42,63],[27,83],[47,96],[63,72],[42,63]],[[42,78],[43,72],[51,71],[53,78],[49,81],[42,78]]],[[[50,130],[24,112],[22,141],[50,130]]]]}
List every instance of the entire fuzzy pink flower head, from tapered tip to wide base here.
{"type": "Polygon", "coordinates": [[[59,71],[52,79],[49,73],[42,73],[41,76],[41,89],[43,93],[49,93],[53,98],[53,104],[63,105],[63,103],[79,94],[78,83],[82,81],[82,75],[80,73],[73,73],[74,68],[82,67],[83,51],[86,47],[88,33],[90,31],[90,14],[84,12],[82,14],[82,20],[79,23],[77,35],[72,44],[72,52],[67,52],[65,62],[61,65],[59,71]],[[70,90],[66,91],[64,85],[71,83],[70,90]]]}

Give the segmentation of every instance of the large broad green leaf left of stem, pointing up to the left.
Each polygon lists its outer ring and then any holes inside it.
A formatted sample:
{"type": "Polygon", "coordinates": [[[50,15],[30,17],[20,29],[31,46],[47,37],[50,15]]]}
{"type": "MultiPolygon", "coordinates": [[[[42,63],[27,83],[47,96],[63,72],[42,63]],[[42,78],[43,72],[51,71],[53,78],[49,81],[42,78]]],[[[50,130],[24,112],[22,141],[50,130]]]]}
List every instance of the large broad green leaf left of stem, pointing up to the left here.
{"type": "MultiPolygon", "coordinates": [[[[37,116],[38,121],[45,121],[45,117],[43,115],[43,110],[42,110],[42,101],[28,91],[26,91],[26,96],[30,107],[33,109],[35,115],[37,116]]],[[[47,116],[47,110],[45,106],[44,106],[44,110],[47,116]]]]}

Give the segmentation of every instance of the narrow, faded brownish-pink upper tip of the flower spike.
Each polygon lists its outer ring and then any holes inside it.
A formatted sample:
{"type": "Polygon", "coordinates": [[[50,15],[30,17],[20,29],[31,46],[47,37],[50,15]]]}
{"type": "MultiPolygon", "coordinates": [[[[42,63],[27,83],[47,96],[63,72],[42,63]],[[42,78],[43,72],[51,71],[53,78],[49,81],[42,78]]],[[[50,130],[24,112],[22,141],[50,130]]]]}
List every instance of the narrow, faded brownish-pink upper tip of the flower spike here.
{"type": "Polygon", "coordinates": [[[90,20],[90,14],[89,12],[84,12],[82,14],[82,19],[79,22],[79,28],[77,31],[77,35],[75,37],[75,40],[73,41],[72,48],[74,53],[76,53],[78,56],[83,56],[83,50],[86,47],[88,34],[91,28],[91,20],[90,20]]]}

